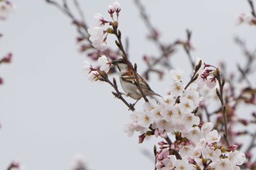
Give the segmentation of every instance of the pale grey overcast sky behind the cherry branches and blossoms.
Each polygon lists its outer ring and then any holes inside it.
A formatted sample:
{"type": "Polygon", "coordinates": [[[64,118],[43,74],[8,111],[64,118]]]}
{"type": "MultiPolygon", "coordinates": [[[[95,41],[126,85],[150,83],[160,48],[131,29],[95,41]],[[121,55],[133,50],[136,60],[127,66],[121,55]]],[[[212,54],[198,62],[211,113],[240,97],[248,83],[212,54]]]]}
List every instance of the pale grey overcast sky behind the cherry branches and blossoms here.
{"type": "MultiPolygon", "coordinates": [[[[79,1],[90,26],[96,12],[108,18],[108,5],[113,4],[108,0],[79,1]]],[[[129,55],[142,72],[142,55],[158,55],[159,51],[146,40],[147,29],[134,1],[119,2],[119,28],[129,37],[129,55]]],[[[245,0],[142,2],[163,42],[186,39],[185,30],[192,30],[193,58],[212,64],[225,60],[228,69],[233,69],[236,63],[243,63],[234,36],[245,39],[251,50],[256,47],[255,27],[235,26],[236,17],[250,10],[245,0]]],[[[152,152],[160,139],[138,144],[139,134],[132,138],[124,134],[129,111],[113,98],[108,85],[82,76],[87,58],[78,53],[77,33],[70,20],[43,0],[12,3],[15,12],[0,23],[4,34],[0,55],[13,53],[13,62],[0,67],[4,78],[0,87],[0,169],[6,169],[13,158],[30,170],[70,169],[77,154],[83,155],[92,170],[154,169],[153,159],[142,152],[152,152]]],[[[113,42],[108,45],[116,48],[113,42]]],[[[176,68],[191,72],[182,49],[172,61],[176,68]]],[[[149,84],[162,95],[168,87],[168,81],[159,82],[157,77],[149,84]]]]}

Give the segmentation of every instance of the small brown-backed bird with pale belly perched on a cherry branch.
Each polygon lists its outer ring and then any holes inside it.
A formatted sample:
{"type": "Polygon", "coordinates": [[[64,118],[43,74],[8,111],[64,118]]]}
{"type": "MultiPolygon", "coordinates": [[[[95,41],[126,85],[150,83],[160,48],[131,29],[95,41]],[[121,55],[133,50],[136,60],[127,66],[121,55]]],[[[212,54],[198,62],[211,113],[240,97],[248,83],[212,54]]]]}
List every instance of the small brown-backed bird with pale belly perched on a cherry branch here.
{"type": "MultiPolygon", "coordinates": [[[[138,82],[136,81],[135,73],[132,72],[132,68],[129,66],[129,61],[120,58],[116,61],[112,61],[113,65],[117,66],[118,70],[120,71],[120,83],[126,96],[133,98],[137,101],[140,100],[143,96],[138,89],[138,82]]],[[[149,87],[148,83],[143,80],[142,77],[138,74],[138,80],[140,81],[140,87],[145,94],[145,96],[160,96],[159,94],[155,93],[149,87]]],[[[135,102],[135,104],[137,103],[135,102]]]]}

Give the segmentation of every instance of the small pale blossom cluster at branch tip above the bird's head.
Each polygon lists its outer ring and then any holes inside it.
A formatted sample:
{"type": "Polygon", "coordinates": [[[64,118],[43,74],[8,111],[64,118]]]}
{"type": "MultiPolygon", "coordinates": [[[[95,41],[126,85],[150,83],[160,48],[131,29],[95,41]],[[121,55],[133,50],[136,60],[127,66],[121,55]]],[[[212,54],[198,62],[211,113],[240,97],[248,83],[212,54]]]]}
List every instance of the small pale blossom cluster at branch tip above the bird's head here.
{"type": "Polygon", "coordinates": [[[115,1],[113,5],[110,5],[108,7],[108,13],[110,14],[110,18],[112,18],[113,21],[105,20],[102,15],[97,13],[94,15],[94,18],[96,20],[94,27],[88,29],[88,33],[90,34],[90,41],[92,43],[92,46],[99,50],[105,50],[106,49],[106,40],[108,37],[108,34],[113,34],[113,30],[111,28],[103,29],[103,26],[105,26],[106,23],[108,23],[110,26],[113,26],[114,28],[118,27],[118,16],[119,12],[121,11],[120,4],[115,1]],[[116,20],[113,16],[113,14],[116,13],[116,20]]]}

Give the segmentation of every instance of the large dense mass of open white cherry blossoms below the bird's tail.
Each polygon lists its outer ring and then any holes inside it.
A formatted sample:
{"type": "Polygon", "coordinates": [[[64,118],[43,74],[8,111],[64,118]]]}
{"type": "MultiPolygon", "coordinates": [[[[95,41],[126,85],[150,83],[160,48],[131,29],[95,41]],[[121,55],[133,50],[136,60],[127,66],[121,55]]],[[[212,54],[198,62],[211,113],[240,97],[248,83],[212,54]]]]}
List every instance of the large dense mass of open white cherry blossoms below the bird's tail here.
{"type": "Polygon", "coordinates": [[[135,131],[140,132],[139,142],[146,136],[161,136],[168,138],[172,133],[176,141],[170,143],[159,142],[160,150],[156,152],[157,169],[240,169],[244,163],[244,153],[236,150],[236,145],[224,147],[219,145],[221,137],[214,130],[212,123],[200,122],[196,115],[203,97],[198,92],[202,82],[209,88],[210,82],[215,82],[217,70],[208,69],[208,64],[197,64],[198,75],[194,82],[184,88],[180,70],[171,70],[173,83],[170,94],[164,96],[157,103],[154,99],[143,105],[142,112],[132,112],[131,122],[124,131],[132,136],[135,131]],[[199,68],[200,66],[200,68],[199,68]],[[177,156],[178,155],[178,156],[177,156]]]}

